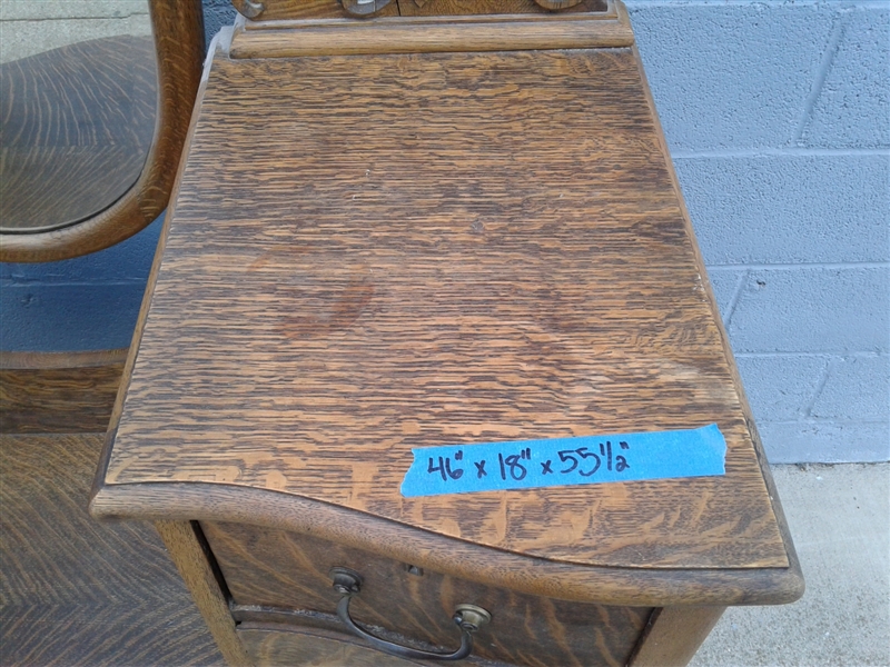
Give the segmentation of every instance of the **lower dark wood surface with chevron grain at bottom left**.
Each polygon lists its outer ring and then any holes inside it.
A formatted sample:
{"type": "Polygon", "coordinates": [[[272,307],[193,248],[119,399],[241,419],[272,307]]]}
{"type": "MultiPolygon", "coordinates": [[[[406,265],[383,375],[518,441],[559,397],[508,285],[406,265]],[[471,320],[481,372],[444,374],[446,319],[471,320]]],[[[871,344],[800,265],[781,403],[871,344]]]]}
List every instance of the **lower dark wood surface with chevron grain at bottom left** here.
{"type": "Polygon", "coordinates": [[[87,514],[101,445],[0,437],[0,661],[221,665],[154,528],[87,514]]]}

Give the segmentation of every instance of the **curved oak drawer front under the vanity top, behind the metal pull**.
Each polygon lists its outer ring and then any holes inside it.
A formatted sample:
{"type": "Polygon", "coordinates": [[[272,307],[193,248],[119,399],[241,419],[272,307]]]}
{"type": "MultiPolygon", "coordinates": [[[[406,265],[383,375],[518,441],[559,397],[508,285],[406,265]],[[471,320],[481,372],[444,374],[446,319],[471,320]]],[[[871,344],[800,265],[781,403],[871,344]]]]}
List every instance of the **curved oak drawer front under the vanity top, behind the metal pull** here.
{"type": "Polygon", "coordinates": [[[353,618],[397,635],[393,640],[398,644],[421,640],[454,648],[459,633],[452,615],[457,605],[472,604],[493,616],[477,635],[474,655],[482,658],[510,665],[617,666],[626,664],[652,613],[485,586],[308,535],[209,521],[201,527],[231,594],[236,620],[345,630],[335,616],[339,596],[328,575],[342,566],[364,578],[350,606],[353,618]]]}

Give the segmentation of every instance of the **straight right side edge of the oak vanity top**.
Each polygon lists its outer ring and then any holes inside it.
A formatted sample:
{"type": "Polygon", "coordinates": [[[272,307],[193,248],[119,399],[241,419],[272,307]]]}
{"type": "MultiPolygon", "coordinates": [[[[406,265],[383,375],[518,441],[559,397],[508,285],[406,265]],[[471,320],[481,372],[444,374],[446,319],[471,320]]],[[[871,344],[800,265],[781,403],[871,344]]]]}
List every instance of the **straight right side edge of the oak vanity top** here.
{"type": "Polygon", "coordinates": [[[664,139],[664,131],[662,130],[661,127],[661,119],[659,118],[659,111],[655,108],[655,100],[652,97],[652,90],[649,88],[649,80],[646,79],[645,70],[643,69],[643,60],[640,58],[640,51],[637,50],[636,46],[633,47],[633,52],[636,59],[636,67],[640,70],[640,78],[643,82],[643,91],[646,96],[646,101],[652,112],[652,120],[655,123],[655,135],[659,138],[661,150],[664,157],[666,158],[665,165],[668,168],[668,172],[671,177],[671,182],[673,183],[674,191],[676,192],[676,201],[680,205],[680,210],[683,213],[683,225],[686,228],[686,237],[690,240],[693,255],[695,256],[695,267],[699,271],[699,276],[701,277],[704,292],[708,296],[708,301],[711,306],[713,320],[716,323],[716,328],[720,332],[720,340],[721,345],[723,346],[723,354],[725,355],[726,360],[729,362],[729,369],[730,372],[732,374],[732,381],[735,385],[735,391],[739,395],[739,402],[742,408],[742,415],[744,416],[745,425],[748,426],[748,431],[751,435],[751,441],[753,442],[754,446],[754,454],[756,455],[758,464],[760,464],[760,471],[763,476],[763,482],[767,487],[767,492],[770,497],[773,515],[775,515],[775,521],[779,526],[779,534],[782,536],[782,541],[784,542],[785,555],[788,557],[789,567],[790,569],[798,573],[799,577],[801,577],[800,595],[798,596],[800,597],[803,595],[804,583],[801,576],[801,568],[800,568],[800,560],[798,559],[798,552],[794,550],[794,542],[791,539],[791,530],[788,527],[788,519],[785,519],[784,511],[782,510],[782,504],[779,500],[779,491],[775,488],[775,481],[772,478],[772,471],[770,470],[769,461],[767,459],[767,454],[763,450],[763,442],[760,439],[760,434],[758,432],[756,425],[754,424],[753,412],[751,411],[751,404],[748,402],[748,395],[744,391],[742,377],[739,374],[739,367],[735,364],[735,357],[732,352],[732,345],[730,344],[729,335],[726,334],[726,329],[723,326],[723,318],[720,313],[720,307],[718,306],[716,297],[714,297],[714,291],[711,288],[711,282],[708,278],[708,270],[704,266],[704,257],[702,256],[701,249],[699,248],[699,241],[698,237],[695,236],[695,229],[692,226],[692,219],[690,218],[689,210],[686,209],[685,199],[683,199],[683,191],[680,187],[680,179],[676,177],[676,171],[674,170],[674,163],[673,160],[671,159],[671,151],[668,147],[668,141],[664,139]]]}

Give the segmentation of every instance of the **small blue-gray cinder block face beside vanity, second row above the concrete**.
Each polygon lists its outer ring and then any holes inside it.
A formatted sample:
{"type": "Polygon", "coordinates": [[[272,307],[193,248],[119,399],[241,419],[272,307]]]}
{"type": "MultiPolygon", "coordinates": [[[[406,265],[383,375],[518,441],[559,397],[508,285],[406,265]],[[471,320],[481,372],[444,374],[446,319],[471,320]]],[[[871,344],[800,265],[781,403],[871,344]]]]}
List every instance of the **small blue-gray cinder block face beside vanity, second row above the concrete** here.
{"type": "Polygon", "coordinates": [[[811,355],[745,355],[735,360],[758,424],[804,417],[829,362],[811,355]]]}

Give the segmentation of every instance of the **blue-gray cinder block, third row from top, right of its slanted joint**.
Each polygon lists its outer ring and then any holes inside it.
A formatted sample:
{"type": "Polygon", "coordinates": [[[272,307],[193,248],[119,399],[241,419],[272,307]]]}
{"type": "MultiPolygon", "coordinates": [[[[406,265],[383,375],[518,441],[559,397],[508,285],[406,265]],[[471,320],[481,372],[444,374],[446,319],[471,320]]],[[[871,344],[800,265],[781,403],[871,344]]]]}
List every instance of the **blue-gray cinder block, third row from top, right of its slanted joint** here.
{"type": "Polygon", "coordinates": [[[890,267],[758,269],[729,322],[741,352],[887,352],[890,267]]]}

